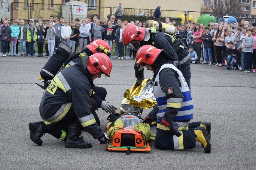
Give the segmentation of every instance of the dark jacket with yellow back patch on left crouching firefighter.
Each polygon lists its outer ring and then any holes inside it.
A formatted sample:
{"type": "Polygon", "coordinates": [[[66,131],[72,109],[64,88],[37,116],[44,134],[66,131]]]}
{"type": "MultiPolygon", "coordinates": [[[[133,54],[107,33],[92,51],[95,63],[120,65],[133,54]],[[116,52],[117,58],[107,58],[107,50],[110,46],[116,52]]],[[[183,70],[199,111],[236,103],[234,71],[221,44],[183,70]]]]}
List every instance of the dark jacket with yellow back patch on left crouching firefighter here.
{"type": "Polygon", "coordinates": [[[81,125],[98,139],[102,130],[91,112],[90,95],[93,81],[81,62],[63,69],[54,76],[40,103],[40,115],[46,124],[58,122],[73,109],[81,125]]]}

